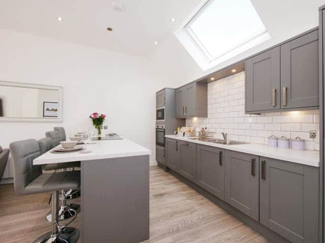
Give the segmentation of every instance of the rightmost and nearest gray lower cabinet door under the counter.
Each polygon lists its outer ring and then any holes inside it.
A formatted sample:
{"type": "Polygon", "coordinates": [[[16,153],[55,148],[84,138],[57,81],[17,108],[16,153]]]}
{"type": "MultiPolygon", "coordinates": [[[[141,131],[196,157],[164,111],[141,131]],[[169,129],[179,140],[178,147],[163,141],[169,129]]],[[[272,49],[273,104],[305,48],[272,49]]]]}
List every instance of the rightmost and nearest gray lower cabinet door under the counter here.
{"type": "Polygon", "coordinates": [[[318,242],[318,168],[260,158],[259,222],[291,242],[318,242]]]}

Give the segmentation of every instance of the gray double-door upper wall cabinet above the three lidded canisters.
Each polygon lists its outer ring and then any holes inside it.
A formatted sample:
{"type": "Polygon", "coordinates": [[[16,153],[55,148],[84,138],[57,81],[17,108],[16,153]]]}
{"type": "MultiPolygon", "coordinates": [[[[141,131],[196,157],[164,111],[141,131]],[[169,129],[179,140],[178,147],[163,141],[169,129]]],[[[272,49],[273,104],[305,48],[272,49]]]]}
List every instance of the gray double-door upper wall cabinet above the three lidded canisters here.
{"type": "Polygon", "coordinates": [[[245,61],[246,112],[319,106],[318,30],[245,61]]]}

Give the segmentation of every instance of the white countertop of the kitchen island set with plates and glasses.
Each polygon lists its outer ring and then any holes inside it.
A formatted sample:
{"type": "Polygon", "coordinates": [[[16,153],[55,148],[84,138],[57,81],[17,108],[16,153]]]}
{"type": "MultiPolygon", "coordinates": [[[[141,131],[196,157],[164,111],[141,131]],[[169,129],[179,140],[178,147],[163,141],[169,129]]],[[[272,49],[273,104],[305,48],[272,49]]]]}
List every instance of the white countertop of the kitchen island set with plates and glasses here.
{"type": "MultiPolygon", "coordinates": [[[[72,161],[84,161],[103,158],[129,157],[139,155],[150,155],[151,151],[128,139],[94,141],[95,144],[87,144],[87,150],[91,153],[51,153],[47,151],[34,159],[34,165],[55,164],[72,161]]],[[[60,145],[59,145],[60,146],[60,145]]],[[[78,145],[84,146],[84,145],[78,145]]]]}

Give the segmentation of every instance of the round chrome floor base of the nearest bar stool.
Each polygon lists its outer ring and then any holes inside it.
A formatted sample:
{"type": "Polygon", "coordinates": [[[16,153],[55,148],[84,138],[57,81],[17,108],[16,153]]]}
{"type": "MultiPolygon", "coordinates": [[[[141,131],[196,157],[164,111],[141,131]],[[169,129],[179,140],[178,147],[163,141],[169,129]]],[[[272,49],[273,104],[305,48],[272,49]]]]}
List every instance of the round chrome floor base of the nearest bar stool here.
{"type": "Polygon", "coordinates": [[[62,228],[56,235],[47,232],[33,243],[76,243],[79,238],[79,231],[72,227],[62,228]]]}

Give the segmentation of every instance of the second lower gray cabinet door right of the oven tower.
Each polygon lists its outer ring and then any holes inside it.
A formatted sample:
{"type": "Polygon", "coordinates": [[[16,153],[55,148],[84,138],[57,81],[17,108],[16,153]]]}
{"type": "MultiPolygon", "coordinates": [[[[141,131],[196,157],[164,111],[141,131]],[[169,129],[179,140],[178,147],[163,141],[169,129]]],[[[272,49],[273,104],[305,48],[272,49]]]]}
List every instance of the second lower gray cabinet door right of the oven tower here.
{"type": "Polygon", "coordinates": [[[197,146],[193,143],[179,142],[180,167],[179,174],[192,182],[196,182],[197,146]]]}

